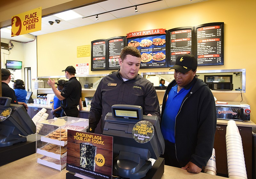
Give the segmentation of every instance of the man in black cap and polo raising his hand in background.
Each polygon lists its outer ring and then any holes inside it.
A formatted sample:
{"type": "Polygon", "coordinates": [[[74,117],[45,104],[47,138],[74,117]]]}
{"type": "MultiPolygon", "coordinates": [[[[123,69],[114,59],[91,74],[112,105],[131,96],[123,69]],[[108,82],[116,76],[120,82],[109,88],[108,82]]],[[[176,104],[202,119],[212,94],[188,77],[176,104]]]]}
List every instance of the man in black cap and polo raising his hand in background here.
{"type": "Polygon", "coordinates": [[[65,70],[65,77],[68,79],[68,82],[64,85],[64,88],[60,92],[55,88],[55,81],[49,78],[48,85],[52,88],[53,93],[61,100],[61,113],[60,116],[70,116],[78,117],[79,111],[83,110],[82,105],[82,86],[80,82],[76,79],[76,69],[73,66],[68,66],[65,70]],[[79,105],[79,110],[77,109],[79,105]]]}

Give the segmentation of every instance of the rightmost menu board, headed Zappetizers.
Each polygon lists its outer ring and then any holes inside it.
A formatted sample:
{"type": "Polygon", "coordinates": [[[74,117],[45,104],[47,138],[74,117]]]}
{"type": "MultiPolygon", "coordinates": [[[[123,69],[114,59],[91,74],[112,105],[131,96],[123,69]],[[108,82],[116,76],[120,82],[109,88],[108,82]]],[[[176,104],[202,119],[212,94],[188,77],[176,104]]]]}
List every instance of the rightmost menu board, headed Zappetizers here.
{"type": "Polygon", "coordinates": [[[224,22],[195,27],[195,56],[198,66],[224,65],[224,22]]]}

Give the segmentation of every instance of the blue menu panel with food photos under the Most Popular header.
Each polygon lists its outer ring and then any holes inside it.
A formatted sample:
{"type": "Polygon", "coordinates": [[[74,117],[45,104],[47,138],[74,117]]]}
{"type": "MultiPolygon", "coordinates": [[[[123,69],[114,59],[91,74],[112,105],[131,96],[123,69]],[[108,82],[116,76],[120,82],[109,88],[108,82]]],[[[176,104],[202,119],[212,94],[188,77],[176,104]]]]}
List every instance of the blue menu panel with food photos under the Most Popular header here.
{"type": "Polygon", "coordinates": [[[127,45],[134,46],[140,51],[140,68],[162,68],[168,66],[166,34],[129,38],[127,45]]]}

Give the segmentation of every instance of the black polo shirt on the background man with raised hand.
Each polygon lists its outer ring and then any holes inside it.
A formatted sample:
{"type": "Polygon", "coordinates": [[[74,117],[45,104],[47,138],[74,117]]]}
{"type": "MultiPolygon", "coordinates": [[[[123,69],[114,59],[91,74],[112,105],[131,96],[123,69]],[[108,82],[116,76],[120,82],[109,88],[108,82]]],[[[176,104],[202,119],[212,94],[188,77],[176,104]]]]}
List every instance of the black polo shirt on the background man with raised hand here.
{"type": "Polygon", "coordinates": [[[82,86],[76,77],[72,77],[68,80],[60,95],[66,98],[61,101],[61,108],[74,108],[79,105],[80,97],[82,96],[82,86]]]}

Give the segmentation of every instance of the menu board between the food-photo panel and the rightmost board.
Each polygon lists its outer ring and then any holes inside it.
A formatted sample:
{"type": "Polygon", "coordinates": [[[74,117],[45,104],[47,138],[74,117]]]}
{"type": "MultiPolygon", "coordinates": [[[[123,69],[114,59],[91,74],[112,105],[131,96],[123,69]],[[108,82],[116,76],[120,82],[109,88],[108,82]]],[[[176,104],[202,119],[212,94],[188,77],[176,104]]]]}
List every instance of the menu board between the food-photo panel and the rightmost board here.
{"type": "Polygon", "coordinates": [[[194,52],[194,27],[178,27],[168,30],[169,66],[175,65],[176,58],[181,54],[194,52]]]}

